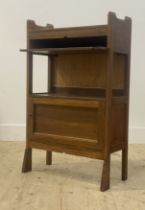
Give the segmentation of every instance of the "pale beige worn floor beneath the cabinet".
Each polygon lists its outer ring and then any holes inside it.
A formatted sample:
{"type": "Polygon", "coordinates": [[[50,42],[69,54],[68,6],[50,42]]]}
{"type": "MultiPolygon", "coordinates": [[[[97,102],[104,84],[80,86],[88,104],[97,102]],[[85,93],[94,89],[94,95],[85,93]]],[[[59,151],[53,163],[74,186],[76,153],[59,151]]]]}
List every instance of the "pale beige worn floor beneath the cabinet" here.
{"type": "Polygon", "coordinates": [[[145,145],[129,146],[129,179],[121,181],[121,153],[112,155],[111,189],[100,192],[102,161],[33,150],[22,174],[24,142],[0,142],[0,210],[145,210],[145,145]]]}

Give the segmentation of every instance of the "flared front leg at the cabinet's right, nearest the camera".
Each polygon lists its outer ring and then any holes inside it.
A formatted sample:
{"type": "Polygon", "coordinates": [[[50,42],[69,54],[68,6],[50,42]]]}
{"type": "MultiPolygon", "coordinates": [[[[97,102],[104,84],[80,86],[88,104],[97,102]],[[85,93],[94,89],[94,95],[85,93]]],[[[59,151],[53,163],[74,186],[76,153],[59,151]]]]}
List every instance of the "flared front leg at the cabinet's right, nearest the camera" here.
{"type": "Polygon", "coordinates": [[[110,155],[106,160],[104,160],[100,190],[104,192],[109,188],[110,188],[110,155]]]}

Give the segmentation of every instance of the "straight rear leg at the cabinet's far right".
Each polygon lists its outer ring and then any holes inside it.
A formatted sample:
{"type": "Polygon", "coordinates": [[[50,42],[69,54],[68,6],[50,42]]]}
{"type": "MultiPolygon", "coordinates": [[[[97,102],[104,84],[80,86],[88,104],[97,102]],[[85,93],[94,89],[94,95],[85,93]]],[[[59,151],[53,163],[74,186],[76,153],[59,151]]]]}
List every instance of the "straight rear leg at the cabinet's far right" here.
{"type": "Polygon", "coordinates": [[[128,149],[122,150],[122,180],[127,180],[128,177],[128,149]]]}

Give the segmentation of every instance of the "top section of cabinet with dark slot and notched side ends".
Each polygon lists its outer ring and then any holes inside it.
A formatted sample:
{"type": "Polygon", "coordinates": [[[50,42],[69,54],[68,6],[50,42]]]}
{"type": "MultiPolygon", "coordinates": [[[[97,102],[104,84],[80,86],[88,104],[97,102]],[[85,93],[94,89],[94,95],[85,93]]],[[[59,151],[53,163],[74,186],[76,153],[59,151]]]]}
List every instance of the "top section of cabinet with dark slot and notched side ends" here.
{"type": "Polygon", "coordinates": [[[27,21],[27,48],[108,47],[114,52],[130,54],[131,19],[119,19],[108,13],[106,25],[54,28],[27,21]]]}

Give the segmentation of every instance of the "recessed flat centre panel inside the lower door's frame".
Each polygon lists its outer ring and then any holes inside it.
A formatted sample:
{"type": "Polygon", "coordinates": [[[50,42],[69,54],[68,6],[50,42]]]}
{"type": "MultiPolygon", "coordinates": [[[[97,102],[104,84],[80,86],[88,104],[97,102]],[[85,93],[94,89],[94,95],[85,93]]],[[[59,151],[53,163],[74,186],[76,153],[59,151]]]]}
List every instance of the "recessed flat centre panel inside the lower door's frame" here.
{"type": "Polygon", "coordinates": [[[34,132],[87,138],[97,141],[97,110],[35,105],[34,116],[34,132]]]}

